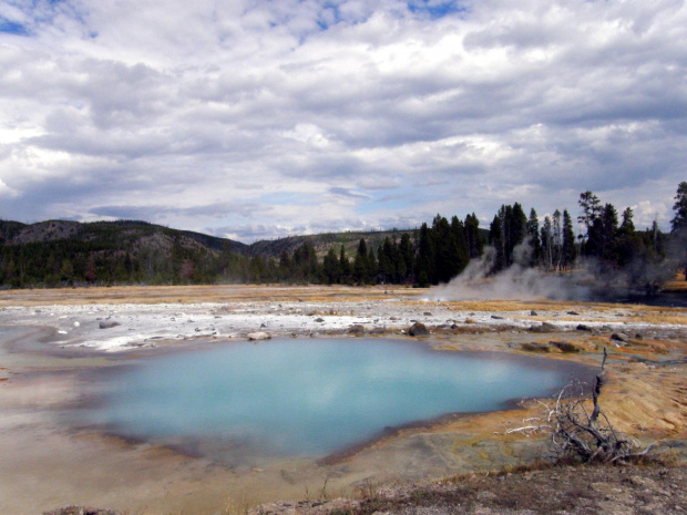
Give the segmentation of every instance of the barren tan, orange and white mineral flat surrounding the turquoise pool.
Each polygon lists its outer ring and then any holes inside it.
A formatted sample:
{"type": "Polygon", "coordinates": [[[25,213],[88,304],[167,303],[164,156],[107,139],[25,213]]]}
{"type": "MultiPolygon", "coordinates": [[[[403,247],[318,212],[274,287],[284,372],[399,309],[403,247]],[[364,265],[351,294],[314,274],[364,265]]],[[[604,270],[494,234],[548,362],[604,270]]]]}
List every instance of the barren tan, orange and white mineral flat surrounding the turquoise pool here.
{"type": "MultiPolygon", "coordinates": [[[[536,402],[390,432],[324,462],[227,467],[187,449],[124,441],[54,418],[82,402],[94,371],[177,349],[269,337],[386,336],[437,350],[511,352],[596,365],[618,429],[664,449],[687,440],[687,310],[598,302],[437,301],[428,290],[349,287],[155,287],[0,292],[0,511],[66,504],[133,513],[213,513],[278,498],[350,493],[526,463],[545,440],[511,432],[536,402]]],[[[684,449],[684,445],[683,445],[684,449]]],[[[678,459],[685,460],[674,449],[678,459]]],[[[684,452],[684,451],[683,451],[684,452]]]]}

